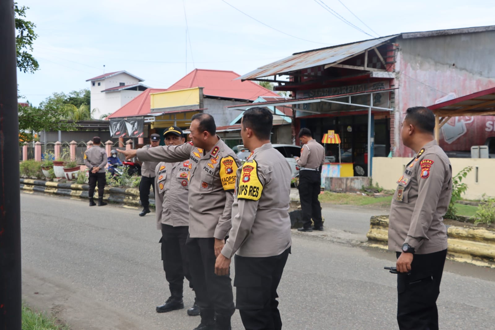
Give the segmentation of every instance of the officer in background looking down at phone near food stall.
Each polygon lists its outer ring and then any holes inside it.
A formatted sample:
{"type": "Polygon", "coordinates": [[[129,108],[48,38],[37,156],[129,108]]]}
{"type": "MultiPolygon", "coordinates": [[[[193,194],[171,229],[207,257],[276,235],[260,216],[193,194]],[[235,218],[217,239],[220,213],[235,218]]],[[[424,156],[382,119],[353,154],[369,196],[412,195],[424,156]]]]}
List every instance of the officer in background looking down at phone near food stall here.
{"type": "Polygon", "coordinates": [[[323,230],[321,206],[318,200],[321,186],[321,165],[325,162],[325,148],[313,139],[311,131],[303,128],[299,132],[299,141],[304,144],[301,148],[301,157],[296,157],[299,169],[299,199],[301,201],[302,228],[300,232],[323,230]],[[311,218],[314,226],[311,228],[311,218]]]}

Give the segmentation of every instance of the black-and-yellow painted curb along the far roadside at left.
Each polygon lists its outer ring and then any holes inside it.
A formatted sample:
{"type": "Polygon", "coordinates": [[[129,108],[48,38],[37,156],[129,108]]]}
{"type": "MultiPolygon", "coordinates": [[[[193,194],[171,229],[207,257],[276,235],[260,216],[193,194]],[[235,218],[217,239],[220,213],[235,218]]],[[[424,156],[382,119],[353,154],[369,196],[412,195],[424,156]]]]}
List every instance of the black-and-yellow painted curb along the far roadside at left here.
{"type": "MultiPolygon", "coordinates": [[[[89,185],[20,178],[20,188],[22,190],[37,191],[47,194],[59,194],[85,199],[89,198],[89,185]]],[[[95,192],[95,194],[97,194],[97,192],[95,192]]],[[[139,207],[141,205],[139,199],[139,189],[136,188],[122,189],[105,187],[105,193],[103,194],[103,200],[135,207],[139,207]]],[[[149,202],[151,204],[155,203],[154,195],[152,193],[149,194],[149,202]]]]}

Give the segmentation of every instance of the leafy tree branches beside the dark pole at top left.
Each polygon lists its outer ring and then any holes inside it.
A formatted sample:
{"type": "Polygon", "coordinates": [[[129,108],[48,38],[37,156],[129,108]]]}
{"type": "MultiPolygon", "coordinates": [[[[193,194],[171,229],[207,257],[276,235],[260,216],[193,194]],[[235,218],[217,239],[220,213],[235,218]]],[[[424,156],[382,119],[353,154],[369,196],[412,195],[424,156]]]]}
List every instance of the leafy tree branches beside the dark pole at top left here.
{"type": "Polygon", "coordinates": [[[38,35],[34,32],[36,25],[23,18],[26,17],[26,9],[29,9],[29,7],[19,7],[17,2],[14,3],[17,67],[21,72],[33,73],[40,68],[38,61],[30,53],[30,51],[33,51],[33,42],[38,38],[38,35]]]}

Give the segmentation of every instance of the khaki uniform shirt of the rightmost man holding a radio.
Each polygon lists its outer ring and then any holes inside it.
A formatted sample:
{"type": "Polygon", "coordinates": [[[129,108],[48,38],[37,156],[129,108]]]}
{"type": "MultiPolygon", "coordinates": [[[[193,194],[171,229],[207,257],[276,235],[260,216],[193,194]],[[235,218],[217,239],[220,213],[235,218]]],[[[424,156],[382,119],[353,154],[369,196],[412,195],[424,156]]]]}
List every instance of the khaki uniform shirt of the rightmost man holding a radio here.
{"type": "Polygon", "coordinates": [[[447,248],[443,216],[452,194],[450,161],[437,141],[428,142],[397,180],[389,223],[389,250],[412,246],[417,254],[447,248]]]}

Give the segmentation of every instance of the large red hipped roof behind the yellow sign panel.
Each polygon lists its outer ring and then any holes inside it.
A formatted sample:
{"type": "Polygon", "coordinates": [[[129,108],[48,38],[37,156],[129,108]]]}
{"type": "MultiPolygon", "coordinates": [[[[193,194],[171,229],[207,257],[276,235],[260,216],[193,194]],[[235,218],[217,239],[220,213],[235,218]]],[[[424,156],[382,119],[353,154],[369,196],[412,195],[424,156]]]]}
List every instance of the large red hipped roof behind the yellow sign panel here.
{"type": "Polygon", "coordinates": [[[234,80],[234,71],[194,69],[167,91],[202,87],[203,95],[254,101],[258,96],[279,96],[252,81],[234,80]]]}

